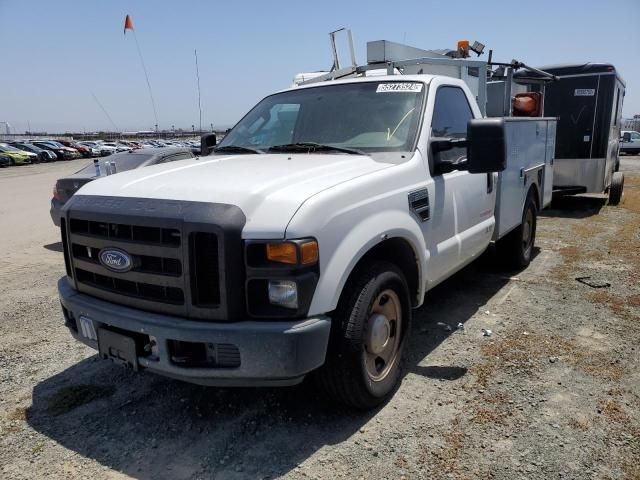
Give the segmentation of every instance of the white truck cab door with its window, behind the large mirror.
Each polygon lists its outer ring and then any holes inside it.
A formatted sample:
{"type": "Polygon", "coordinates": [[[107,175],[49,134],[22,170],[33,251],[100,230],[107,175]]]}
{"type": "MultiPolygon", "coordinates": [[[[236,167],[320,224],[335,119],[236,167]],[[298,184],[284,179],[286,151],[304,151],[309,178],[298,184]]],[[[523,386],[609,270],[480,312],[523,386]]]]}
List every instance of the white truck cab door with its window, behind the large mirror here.
{"type": "MultiPolygon", "coordinates": [[[[474,117],[465,92],[456,86],[441,86],[435,94],[431,138],[465,138],[467,123],[474,117]]],[[[427,245],[434,252],[432,274],[447,276],[488,245],[495,223],[493,174],[472,175],[467,171],[438,171],[438,160],[461,161],[466,148],[430,152],[429,167],[434,180],[432,233],[427,245]]]]}

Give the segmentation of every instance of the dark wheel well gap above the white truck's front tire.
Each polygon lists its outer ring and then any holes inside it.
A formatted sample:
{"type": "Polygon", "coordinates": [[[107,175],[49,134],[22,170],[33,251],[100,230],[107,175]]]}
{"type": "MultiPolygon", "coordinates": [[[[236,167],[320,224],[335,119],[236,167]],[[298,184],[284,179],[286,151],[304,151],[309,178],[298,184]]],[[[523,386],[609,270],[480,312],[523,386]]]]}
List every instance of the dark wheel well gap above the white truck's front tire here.
{"type": "Polygon", "coordinates": [[[418,291],[420,288],[418,259],[411,244],[403,238],[389,238],[378,243],[358,261],[353,272],[362,265],[372,260],[385,260],[396,265],[405,276],[409,286],[411,306],[418,304],[418,291]]]}

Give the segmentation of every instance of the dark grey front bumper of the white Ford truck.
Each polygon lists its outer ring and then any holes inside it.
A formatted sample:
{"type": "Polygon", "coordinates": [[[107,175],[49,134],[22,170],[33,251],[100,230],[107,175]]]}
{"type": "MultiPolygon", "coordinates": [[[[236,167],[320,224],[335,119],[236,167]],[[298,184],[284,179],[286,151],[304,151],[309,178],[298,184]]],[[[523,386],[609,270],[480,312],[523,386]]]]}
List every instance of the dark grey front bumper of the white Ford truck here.
{"type": "MultiPolygon", "coordinates": [[[[92,320],[94,328],[115,327],[156,338],[156,358],[138,356],[140,368],[168,377],[214,386],[285,386],[299,383],[325,360],[331,321],[318,316],[294,321],[204,322],[150,313],[112,304],[78,293],[66,277],[58,281],[60,302],[66,315],[92,320]],[[169,341],[235,345],[240,366],[191,368],[171,361],[169,341]]],[[[95,340],[72,326],[71,334],[98,349],[95,340]]]]}

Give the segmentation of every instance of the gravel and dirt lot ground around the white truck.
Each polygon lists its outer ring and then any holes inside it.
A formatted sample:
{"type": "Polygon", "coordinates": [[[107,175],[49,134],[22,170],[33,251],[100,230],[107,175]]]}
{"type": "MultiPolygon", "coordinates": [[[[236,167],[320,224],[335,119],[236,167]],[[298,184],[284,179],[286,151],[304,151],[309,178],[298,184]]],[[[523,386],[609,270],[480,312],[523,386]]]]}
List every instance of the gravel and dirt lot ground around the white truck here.
{"type": "Polygon", "coordinates": [[[133,374],[73,341],[48,200],[81,163],[0,171],[0,477],[640,478],[640,158],[619,207],[543,212],[527,270],[489,256],[430,292],[400,389],[367,414],[306,383],[133,374]]]}

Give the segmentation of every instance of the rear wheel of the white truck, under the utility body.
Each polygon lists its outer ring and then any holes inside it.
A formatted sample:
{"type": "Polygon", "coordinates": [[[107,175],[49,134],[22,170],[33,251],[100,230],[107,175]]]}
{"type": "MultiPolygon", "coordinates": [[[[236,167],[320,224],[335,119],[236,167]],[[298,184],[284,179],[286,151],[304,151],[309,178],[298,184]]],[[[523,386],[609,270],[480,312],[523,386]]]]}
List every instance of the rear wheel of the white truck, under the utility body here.
{"type": "Polygon", "coordinates": [[[497,243],[498,254],[506,268],[525,268],[533,258],[533,247],[536,242],[536,225],[538,223],[538,207],[534,192],[530,191],[522,210],[522,222],[512,232],[497,243]]]}

